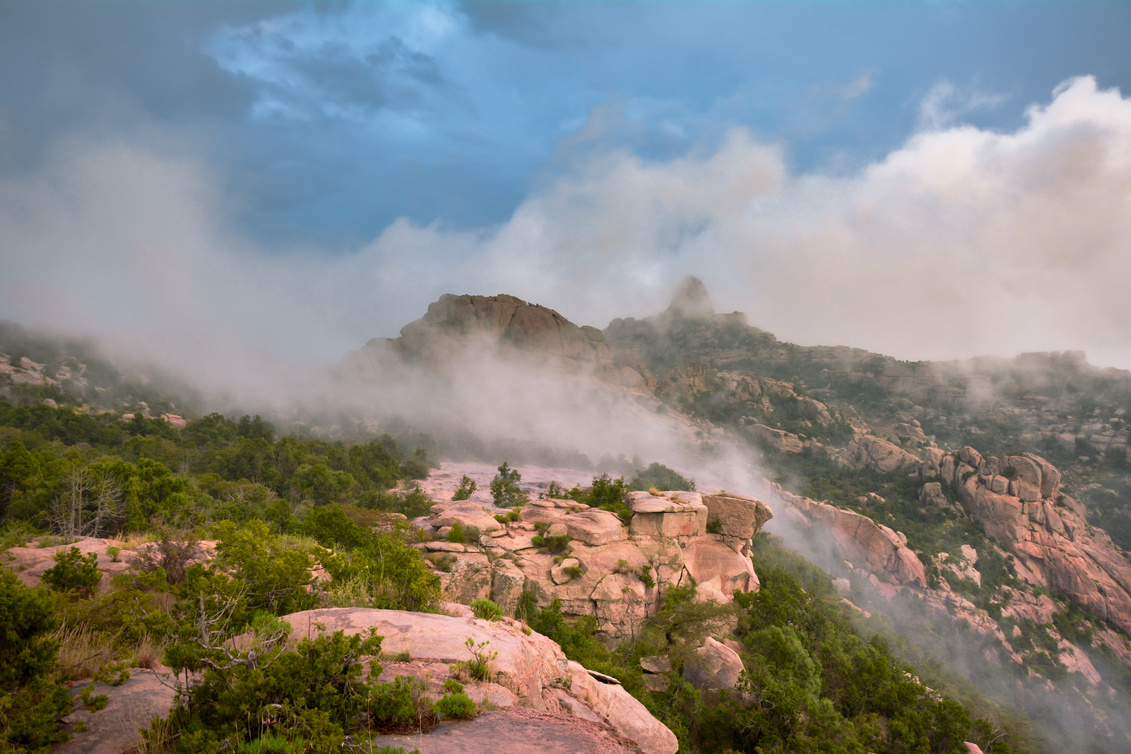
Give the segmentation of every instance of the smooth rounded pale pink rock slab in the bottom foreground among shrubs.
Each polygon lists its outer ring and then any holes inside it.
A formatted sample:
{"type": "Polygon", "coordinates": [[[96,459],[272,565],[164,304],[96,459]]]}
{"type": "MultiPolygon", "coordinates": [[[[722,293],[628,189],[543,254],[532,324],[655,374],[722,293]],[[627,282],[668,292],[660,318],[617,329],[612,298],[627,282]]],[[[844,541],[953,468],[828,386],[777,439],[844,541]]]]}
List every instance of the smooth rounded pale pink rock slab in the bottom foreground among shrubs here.
{"type": "MultiPolygon", "coordinates": [[[[307,610],[285,619],[300,636],[322,631],[352,635],[374,629],[385,636],[382,653],[407,652],[414,665],[426,666],[432,674],[430,683],[441,686],[450,675],[450,669],[444,675],[444,668],[472,659],[467,639],[475,644],[486,642],[486,651],[498,652],[491,661],[494,684],[509,692],[509,696],[493,697],[495,705],[603,723],[614,740],[627,739],[649,754],[674,754],[679,748],[672,731],[621,686],[598,681],[579,664],[566,659],[553,641],[537,633],[527,635],[511,621],[369,608],[307,610]]],[[[414,747],[420,747],[416,737],[412,740],[414,747]]]]}

